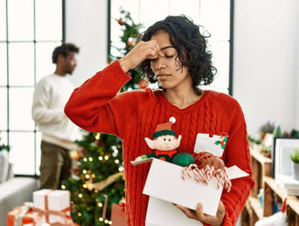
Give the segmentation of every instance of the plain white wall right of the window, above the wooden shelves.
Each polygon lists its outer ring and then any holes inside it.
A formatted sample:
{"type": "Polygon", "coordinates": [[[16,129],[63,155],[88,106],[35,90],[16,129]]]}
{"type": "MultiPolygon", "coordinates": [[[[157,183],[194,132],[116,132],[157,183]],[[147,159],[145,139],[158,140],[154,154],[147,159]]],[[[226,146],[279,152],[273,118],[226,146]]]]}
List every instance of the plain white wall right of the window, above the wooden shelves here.
{"type": "Polygon", "coordinates": [[[295,0],[235,1],[233,95],[249,134],[268,119],[296,127],[297,8],[295,0]]]}

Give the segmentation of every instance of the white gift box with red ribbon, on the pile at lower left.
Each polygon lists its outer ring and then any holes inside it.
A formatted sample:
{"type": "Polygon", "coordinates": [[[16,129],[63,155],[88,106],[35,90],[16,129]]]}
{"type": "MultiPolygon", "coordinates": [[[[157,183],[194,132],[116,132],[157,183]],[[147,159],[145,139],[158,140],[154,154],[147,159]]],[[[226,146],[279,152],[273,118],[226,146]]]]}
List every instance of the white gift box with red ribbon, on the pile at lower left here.
{"type": "MultiPolygon", "coordinates": [[[[45,210],[45,195],[49,193],[51,189],[42,189],[33,192],[33,205],[39,209],[45,210]]],[[[48,209],[49,210],[64,210],[70,207],[70,192],[67,190],[54,190],[48,194],[48,209]]],[[[67,215],[71,215],[70,210],[65,212],[67,215]]],[[[39,221],[39,223],[45,223],[45,216],[39,221]]],[[[49,222],[65,223],[65,219],[60,216],[49,215],[49,222]]]]}

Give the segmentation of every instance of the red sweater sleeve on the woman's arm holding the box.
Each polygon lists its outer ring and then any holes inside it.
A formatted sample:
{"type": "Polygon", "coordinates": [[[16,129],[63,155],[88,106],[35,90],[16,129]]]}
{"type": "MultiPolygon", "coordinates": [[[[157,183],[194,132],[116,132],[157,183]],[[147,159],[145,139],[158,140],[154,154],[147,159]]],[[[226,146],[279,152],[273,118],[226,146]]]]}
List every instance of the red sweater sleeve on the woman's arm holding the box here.
{"type": "MultiPolygon", "coordinates": [[[[232,187],[229,193],[223,190],[221,200],[225,206],[225,216],[222,226],[234,226],[242,212],[251,189],[255,186],[250,165],[250,152],[247,138],[247,129],[244,114],[237,101],[234,102],[234,115],[231,120],[229,138],[226,143],[224,161],[227,167],[236,165],[249,176],[231,180],[232,187]]],[[[204,224],[207,226],[207,224],[204,224]]]]}

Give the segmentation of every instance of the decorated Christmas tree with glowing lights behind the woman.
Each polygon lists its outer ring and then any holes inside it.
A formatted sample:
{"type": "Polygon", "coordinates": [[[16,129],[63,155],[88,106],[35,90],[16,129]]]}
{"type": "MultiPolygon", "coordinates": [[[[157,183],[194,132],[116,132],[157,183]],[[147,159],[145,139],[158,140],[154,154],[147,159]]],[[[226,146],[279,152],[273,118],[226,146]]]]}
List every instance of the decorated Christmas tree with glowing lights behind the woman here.
{"type": "MultiPolygon", "coordinates": [[[[115,19],[123,31],[120,36],[125,48],[118,49],[122,55],[135,45],[140,25],[136,25],[129,12],[121,10],[122,18],[115,19]]],[[[108,59],[123,56],[109,55],[108,59]]],[[[147,80],[135,71],[129,71],[132,79],[121,91],[147,87],[147,80]]],[[[85,132],[83,140],[76,141],[79,150],[72,150],[70,157],[76,161],[72,176],[62,182],[62,189],[71,192],[71,216],[82,226],[110,225],[112,203],[119,203],[125,197],[122,142],[120,138],[104,134],[85,132]]]]}

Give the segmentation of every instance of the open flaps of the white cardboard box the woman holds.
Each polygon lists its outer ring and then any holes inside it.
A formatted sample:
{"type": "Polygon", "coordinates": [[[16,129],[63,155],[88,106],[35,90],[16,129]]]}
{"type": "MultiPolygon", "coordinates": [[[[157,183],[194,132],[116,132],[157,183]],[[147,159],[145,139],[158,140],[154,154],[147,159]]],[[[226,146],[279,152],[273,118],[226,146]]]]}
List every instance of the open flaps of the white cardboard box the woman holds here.
{"type": "MultiPolygon", "coordinates": [[[[202,183],[197,183],[194,179],[186,178],[183,180],[181,178],[183,167],[156,158],[131,161],[131,163],[137,165],[150,161],[152,163],[144,185],[143,194],[170,203],[180,204],[192,210],[196,210],[196,206],[200,202],[203,205],[204,213],[216,216],[223,189],[223,187],[217,189],[216,178],[212,178],[208,186],[206,186],[202,183]]],[[[230,179],[248,175],[248,173],[237,166],[228,168],[230,179]]]]}

